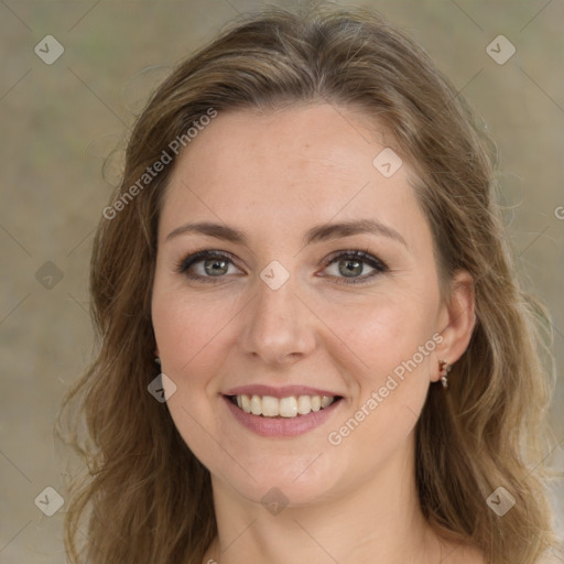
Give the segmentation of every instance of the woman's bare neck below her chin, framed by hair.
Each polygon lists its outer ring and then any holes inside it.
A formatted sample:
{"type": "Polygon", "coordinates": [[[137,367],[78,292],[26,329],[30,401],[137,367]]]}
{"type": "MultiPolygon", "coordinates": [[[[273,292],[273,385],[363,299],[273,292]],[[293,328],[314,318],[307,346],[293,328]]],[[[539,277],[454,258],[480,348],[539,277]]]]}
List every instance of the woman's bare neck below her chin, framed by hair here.
{"type": "Polygon", "coordinates": [[[330,499],[289,505],[278,514],[213,479],[218,564],[438,563],[441,543],[419,505],[411,456],[330,499]]]}

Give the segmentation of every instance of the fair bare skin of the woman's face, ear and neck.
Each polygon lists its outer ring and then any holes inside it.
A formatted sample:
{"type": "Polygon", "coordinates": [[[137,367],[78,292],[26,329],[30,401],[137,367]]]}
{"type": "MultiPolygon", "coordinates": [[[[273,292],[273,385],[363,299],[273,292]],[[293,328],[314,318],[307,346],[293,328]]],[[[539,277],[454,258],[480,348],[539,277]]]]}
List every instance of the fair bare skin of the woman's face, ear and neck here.
{"type": "MultiPolygon", "coordinates": [[[[204,562],[482,562],[476,550],[438,539],[421,513],[414,479],[415,424],[440,379],[438,361],[455,362],[471,336],[471,279],[458,272],[441,300],[432,235],[409,167],[387,178],[372,165],[386,140],[368,122],[325,104],[220,113],[173,172],[152,315],[162,370],[176,386],[170,412],[212,474],[218,538],[204,562]],[[373,234],[302,242],[314,226],[355,219],[377,219],[405,245],[373,234]],[[194,232],[167,239],[195,221],[236,227],[247,243],[194,232]],[[216,283],[176,269],[202,249],[235,257],[226,273],[208,274],[216,283]],[[347,284],[339,259],[323,262],[341,250],[366,251],[389,270],[347,284]],[[278,290],[260,278],[273,260],[290,274],[278,290]],[[330,444],[329,433],[434,334],[442,336],[435,350],[339,445],[330,444]],[[262,437],[235,420],[221,395],[256,383],[306,384],[344,400],[303,435],[262,437]],[[289,500],[276,516],[261,503],[272,487],[289,500]]],[[[361,268],[359,278],[373,272],[361,268]]],[[[206,275],[204,263],[191,272],[206,275]]]]}

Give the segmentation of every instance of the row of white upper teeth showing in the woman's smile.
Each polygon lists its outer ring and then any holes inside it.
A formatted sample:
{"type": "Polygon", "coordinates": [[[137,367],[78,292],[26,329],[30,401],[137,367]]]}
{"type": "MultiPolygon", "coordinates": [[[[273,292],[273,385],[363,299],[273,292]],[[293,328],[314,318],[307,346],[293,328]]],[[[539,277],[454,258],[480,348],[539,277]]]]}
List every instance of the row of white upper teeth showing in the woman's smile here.
{"type": "Polygon", "coordinates": [[[237,405],[245,413],[263,417],[296,417],[328,408],[335,398],[329,395],[290,395],[278,399],[272,395],[237,395],[236,400],[237,405]]]}

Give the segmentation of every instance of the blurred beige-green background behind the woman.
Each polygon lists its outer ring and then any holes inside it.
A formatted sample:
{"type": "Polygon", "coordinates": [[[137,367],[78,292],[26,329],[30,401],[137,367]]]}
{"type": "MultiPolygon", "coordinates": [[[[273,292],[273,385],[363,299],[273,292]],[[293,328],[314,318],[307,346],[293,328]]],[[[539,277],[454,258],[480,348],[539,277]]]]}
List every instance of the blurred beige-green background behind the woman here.
{"type": "MultiPolygon", "coordinates": [[[[104,178],[104,159],[172,65],[238,12],[262,4],[0,1],[0,563],[65,562],[65,507],[52,517],[40,507],[46,487],[65,496],[65,465],[52,425],[63,393],[93,350],[88,259],[120,165],[119,155],[110,159],[104,178]],[[47,50],[46,35],[62,47],[50,39],[47,50]],[[57,48],[64,53],[50,61],[57,48]]],[[[552,312],[562,375],[564,2],[357,4],[378,9],[411,32],[488,123],[499,147],[502,204],[520,269],[552,312]],[[503,65],[486,52],[499,34],[517,48],[503,65]]],[[[561,378],[551,455],[560,469],[563,412],[561,378]]],[[[555,484],[561,528],[563,492],[555,484]]],[[[54,494],[46,495],[54,509],[54,494]]]]}

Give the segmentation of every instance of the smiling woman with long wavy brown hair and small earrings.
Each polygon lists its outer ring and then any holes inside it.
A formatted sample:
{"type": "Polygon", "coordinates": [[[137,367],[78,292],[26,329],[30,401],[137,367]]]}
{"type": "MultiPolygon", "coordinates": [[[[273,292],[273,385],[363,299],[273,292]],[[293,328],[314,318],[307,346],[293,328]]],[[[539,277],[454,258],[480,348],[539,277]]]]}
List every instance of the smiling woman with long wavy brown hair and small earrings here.
{"type": "Polygon", "coordinates": [[[182,63],[96,238],[72,562],[541,562],[546,325],[492,153],[368,12],[182,63]]]}

